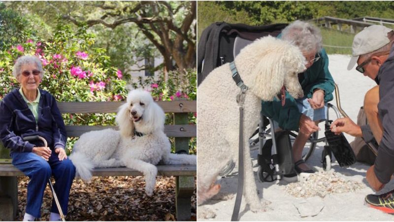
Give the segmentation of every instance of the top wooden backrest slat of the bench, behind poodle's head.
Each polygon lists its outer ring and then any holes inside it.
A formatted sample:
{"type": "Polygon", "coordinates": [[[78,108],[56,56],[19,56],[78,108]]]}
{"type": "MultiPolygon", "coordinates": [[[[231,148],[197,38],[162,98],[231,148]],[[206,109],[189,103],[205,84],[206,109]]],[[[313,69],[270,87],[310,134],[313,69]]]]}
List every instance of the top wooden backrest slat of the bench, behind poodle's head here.
{"type": "MultiPolygon", "coordinates": [[[[125,102],[59,102],[62,113],[116,113],[125,102]]],[[[159,101],[164,112],[196,112],[196,101],[159,101]]]]}

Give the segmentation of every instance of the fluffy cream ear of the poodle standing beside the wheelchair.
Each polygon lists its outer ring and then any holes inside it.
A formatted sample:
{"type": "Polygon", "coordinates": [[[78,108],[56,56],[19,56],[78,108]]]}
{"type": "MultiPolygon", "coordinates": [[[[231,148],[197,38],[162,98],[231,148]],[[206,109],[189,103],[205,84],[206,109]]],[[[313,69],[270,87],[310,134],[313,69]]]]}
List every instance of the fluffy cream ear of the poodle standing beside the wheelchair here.
{"type": "Polygon", "coordinates": [[[252,69],[252,81],[248,87],[264,101],[272,101],[280,92],[286,74],[284,53],[270,51],[252,69]]]}

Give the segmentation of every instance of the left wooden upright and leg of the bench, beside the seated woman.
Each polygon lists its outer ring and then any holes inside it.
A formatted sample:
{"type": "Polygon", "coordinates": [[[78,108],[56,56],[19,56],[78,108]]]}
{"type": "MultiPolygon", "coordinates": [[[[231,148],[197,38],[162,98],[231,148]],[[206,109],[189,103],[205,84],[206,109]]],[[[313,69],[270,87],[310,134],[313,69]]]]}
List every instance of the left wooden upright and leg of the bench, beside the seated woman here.
{"type": "MultiPolygon", "coordinates": [[[[9,164],[9,150],[0,142],[0,165],[9,164]]],[[[18,207],[18,178],[0,176],[0,221],[14,221],[18,207]]]]}

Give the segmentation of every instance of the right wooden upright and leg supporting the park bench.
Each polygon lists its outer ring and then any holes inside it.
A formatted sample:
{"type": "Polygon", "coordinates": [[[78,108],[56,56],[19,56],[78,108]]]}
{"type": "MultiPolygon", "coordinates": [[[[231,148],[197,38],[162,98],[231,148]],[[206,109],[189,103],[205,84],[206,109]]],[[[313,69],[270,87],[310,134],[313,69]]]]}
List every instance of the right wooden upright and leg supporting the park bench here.
{"type": "MultiPolygon", "coordinates": [[[[174,124],[189,124],[188,113],[174,113],[174,124]]],[[[185,150],[189,153],[188,137],[175,138],[175,151],[185,150]]],[[[190,221],[192,217],[192,200],[195,189],[195,180],[193,176],[176,177],[175,188],[175,205],[176,218],[178,221],[190,221]]]]}

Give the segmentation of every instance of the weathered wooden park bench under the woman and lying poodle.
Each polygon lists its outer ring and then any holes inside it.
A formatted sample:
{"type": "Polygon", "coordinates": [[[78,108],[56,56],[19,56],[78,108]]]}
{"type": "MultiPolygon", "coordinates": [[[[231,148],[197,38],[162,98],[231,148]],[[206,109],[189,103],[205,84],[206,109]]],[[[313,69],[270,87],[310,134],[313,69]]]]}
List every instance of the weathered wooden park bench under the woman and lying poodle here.
{"type": "MultiPolygon", "coordinates": [[[[58,103],[62,113],[116,113],[122,102],[68,102],[58,103]]],[[[196,125],[188,122],[188,113],[196,112],[196,101],[158,102],[166,113],[173,113],[174,125],[165,125],[164,132],[175,138],[175,151],[189,153],[189,140],[197,136],[196,125]]],[[[79,137],[83,133],[116,126],[77,126],[66,125],[68,137],[79,137]]],[[[1,144],[0,144],[1,145],[1,144]]],[[[0,146],[0,221],[13,221],[18,206],[18,176],[24,176],[11,164],[9,150],[0,146]]],[[[175,176],[175,204],[178,221],[191,219],[191,196],[195,190],[195,165],[160,165],[158,176],[175,176]]],[[[141,176],[138,171],[129,168],[96,168],[93,176],[141,176]]]]}

